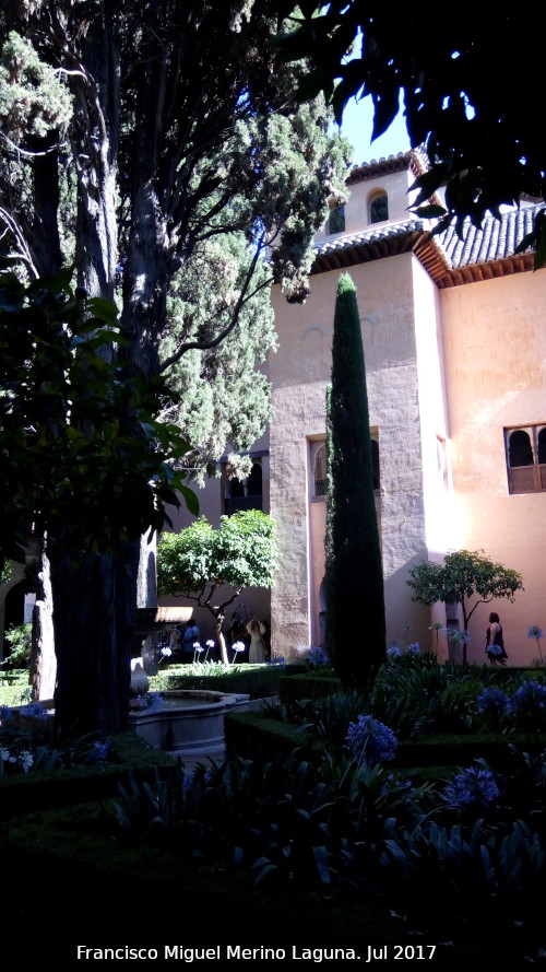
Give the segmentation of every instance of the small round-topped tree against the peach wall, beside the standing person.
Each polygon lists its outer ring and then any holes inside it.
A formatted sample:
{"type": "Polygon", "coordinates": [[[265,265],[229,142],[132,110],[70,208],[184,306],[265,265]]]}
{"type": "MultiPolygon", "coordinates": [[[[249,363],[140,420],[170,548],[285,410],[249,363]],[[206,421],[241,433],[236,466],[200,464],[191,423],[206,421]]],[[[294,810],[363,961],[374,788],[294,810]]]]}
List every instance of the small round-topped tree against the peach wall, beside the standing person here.
{"type": "MultiPolygon", "coordinates": [[[[422,561],[410,570],[407,583],[413,590],[412,600],[417,604],[427,607],[437,601],[461,605],[465,631],[478,605],[499,597],[513,601],[515,592],[523,590],[518,571],[494,563],[483,550],[456,550],[444,557],[443,564],[422,561]],[[468,600],[474,597],[477,600],[468,610],[468,600]]],[[[466,643],[463,644],[463,663],[466,664],[466,643]]]]}

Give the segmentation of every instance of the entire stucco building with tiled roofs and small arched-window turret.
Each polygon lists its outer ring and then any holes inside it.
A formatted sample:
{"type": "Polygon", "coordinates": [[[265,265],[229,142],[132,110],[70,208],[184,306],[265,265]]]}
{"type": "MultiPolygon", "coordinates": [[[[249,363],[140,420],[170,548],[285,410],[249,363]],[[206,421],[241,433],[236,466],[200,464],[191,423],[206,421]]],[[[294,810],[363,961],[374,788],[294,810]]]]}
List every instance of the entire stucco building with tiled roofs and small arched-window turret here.
{"type": "MultiPolygon", "coordinates": [[[[507,429],[546,426],[546,272],[527,272],[532,258],[515,254],[532,212],[523,206],[500,229],[468,226],[463,243],[450,232],[431,241],[430,226],[407,211],[408,188],[423,164],[412,152],[354,169],[344,231],[329,235],[327,223],[317,234],[306,303],[287,304],[273,288],[278,351],[268,367],[275,417],[269,440],[256,448],[263,508],[276,519],[280,543],[272,644],[286,657],[323,635],[325,500],[314,494],[313,464],[325,438],[334,304],[345,268],[357,286],[370,429],[379,447],[388,645],[438,644],[440,659],[447,657],[444,635],[437,642],[430,625],[458,623],[456,606],[415,605],[408,569],[463,548],[483,549],[523,576],[525,592],[514,605],[491,606],[501,616],[512,664],[529,664],[537,654],[527,628],[546,628],[546,461],[541,492],[511,495],[506,453],[507,429]],[[389,219],[371,223],[369,203],[379,191],[388,195],[389,219]]],[[[200,493],[213,523],[223,512],[224,489],[216,480],[200,493]]],[[[268,597],[253,592],[244,599],[253,606],[256,598],[257,613],[265,617],[268,597]]],[[[490,609],[480,606],[471,620],[470,660],[485,660],[490,609]]]]}

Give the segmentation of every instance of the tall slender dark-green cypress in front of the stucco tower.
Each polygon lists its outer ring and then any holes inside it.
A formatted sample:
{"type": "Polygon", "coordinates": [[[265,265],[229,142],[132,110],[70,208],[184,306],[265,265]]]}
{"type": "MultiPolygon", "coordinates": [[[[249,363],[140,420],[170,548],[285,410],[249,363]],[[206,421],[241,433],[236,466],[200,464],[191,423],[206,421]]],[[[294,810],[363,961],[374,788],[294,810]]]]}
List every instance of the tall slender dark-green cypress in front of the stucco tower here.
{"type": "Polygon", "coordinates": [[[383,572],[356,288],[340,278],[327,393],[327,645],[345,687],[369,687],[384,658],[383,572]]]}

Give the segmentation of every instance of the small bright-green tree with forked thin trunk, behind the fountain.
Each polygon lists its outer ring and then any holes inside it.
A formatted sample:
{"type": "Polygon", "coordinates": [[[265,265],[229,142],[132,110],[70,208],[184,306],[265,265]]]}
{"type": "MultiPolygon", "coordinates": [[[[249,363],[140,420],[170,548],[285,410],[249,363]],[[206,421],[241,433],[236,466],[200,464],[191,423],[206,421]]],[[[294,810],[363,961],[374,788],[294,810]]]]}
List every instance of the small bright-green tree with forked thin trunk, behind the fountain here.
{"type": "Polygon", "coordinates": [[[222,516],[218,529],[201,516],[179,534],[163,534],[157,547],[157,589],[206,608],[227,664],[222,631],[226,609],[245,587],[271,587],[276,552],[274,520],[260,510],[222,516]],[[221,592],[224,585],[228,589],[221,592]]]}

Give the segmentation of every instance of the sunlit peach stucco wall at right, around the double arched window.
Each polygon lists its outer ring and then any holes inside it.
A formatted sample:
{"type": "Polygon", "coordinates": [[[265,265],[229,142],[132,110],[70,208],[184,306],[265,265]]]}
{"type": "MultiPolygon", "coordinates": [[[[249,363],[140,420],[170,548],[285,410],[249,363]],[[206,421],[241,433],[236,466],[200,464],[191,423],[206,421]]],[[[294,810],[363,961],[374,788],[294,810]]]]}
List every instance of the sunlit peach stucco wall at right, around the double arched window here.
{"type": "MultiPolygon", "coordinates": [[[[510,495],[505,429],[546,423],[546,273],[517,273],[441,293],[453,487],[460,546],[519,571],[525,590],[497,600],[511,664],[537,657],[545,625],[545,492],[510,495]]],[[[470,660],[484,659],[489,606],[470,623],[470,660]]]]}

